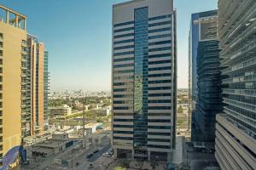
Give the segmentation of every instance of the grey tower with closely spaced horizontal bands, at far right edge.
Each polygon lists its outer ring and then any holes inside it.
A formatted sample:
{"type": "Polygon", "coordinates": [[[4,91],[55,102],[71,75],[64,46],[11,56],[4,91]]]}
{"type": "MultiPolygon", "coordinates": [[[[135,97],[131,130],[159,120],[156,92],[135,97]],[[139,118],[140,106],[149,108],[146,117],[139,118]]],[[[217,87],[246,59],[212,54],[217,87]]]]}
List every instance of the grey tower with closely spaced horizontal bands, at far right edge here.
{"type": "Polygon", "coordinates": [[[216,120],[221,169],[256,167],[256,2],[218,1],[224,110],[216,120]]]}

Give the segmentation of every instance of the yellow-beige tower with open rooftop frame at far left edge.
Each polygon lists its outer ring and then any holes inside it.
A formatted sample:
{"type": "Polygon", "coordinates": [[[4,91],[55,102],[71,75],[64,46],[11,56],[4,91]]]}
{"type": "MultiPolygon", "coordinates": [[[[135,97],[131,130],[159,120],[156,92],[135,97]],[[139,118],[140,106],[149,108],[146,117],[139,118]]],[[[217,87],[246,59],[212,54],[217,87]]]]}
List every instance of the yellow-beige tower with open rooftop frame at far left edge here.
{"type": "Polygon", "coordinates": [[[0,158],[21,143],[25,85],[26,16],[0,5],[0,158]]]}

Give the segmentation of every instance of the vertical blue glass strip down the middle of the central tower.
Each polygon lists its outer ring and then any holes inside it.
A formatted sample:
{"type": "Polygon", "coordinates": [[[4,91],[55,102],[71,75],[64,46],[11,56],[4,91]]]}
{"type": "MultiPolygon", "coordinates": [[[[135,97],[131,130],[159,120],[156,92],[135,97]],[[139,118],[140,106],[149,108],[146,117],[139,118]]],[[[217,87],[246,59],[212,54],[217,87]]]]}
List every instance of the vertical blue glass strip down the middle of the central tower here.
{"type": "Polygon", "coordinates": [[[134,135],[137,150],[146,149],[148,132],[148,8],[134,10],[134,135]]]}

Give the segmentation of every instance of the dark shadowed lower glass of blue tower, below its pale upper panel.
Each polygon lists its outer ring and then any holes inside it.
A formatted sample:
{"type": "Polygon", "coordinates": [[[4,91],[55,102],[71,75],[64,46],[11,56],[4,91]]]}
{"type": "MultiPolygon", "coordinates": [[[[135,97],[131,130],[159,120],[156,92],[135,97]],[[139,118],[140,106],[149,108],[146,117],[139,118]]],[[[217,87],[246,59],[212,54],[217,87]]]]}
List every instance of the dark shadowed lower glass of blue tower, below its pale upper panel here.
{"type": "Polygon", "coordinates": [[[215,139],[215,117],[216,114],[222,111],[217,40],[199,42],[197,74],[198,94],[192,116],[191,140],[213,143],[215,139]]]}

